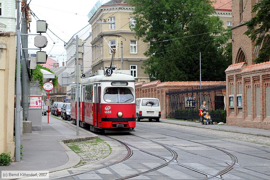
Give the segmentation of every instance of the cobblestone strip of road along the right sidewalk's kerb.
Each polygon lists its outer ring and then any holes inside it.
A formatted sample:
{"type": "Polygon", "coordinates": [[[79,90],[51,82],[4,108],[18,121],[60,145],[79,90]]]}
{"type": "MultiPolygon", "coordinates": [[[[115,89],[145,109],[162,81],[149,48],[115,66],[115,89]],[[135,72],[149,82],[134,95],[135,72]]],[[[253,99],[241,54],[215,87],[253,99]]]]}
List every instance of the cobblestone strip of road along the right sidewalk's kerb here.
{"type": "Polygon", "coordinates": [[[160,128],[168,128],[168,129],[177,129],[178,131],[188,131],[190,133],[197,133],[197,134],[208,134],[209,136],[219,136],[228,139],[235,139],[240,141],[245,141],[249,143],[256,143],[261,144],[264,146],[270,146],[270,138],[267,137],[260,137],[260,136],[253,136],[249,134],[240,134],[240,133],[232,133],[232,132],[225,132],[225,131],[217,131],[211,129],[203,129],[203,128],[196,128],[196,127],[188,127],[188,126],[181,126],[176,124],[169,124],[163,122],[137,122],[140,125],[151,125],[160,128]]]}

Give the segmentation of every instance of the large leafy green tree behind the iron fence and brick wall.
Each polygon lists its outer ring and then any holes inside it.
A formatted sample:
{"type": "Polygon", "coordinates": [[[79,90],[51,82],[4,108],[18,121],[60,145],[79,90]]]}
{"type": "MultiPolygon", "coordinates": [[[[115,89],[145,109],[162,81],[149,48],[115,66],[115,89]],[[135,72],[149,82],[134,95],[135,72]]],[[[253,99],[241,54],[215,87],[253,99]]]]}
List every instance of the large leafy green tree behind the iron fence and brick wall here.
{"type": "Polygon", "coordinates": [[[224,70],[232,63],[226,55],[230,30],[217,16],[210,16],[210,0],[131,0],[136,38],[150,43],[143,65],[150,80],[225,80],[224,70]],[[224,47],[223,47],[224,45],[224,47]]]}

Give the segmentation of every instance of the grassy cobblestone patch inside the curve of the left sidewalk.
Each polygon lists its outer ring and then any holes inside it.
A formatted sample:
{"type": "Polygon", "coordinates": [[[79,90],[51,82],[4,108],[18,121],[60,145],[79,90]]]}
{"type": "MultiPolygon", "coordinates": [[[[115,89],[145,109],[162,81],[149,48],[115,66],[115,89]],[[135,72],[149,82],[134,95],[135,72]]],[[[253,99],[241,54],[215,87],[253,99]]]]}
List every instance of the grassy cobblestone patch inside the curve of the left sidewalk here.
{"type": "Polygon", "coordinates": [[[93,161],[106,158],[112,152],[110,145],[100,138],[96,140],[67,143],[67,146],[80,156],[81,162],[79,165],[89,164],[93,161]]]}

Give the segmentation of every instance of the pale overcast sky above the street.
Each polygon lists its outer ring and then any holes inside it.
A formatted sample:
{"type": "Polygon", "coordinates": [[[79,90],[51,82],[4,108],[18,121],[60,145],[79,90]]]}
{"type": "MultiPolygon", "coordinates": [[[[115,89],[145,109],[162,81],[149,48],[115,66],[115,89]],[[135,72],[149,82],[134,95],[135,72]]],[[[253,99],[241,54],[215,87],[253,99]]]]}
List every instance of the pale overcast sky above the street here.
{"type": "MultiPolygon", "coordinates": [[[[35,13],[40,20],[45,20],[50,29],[55,35],[47,29],[46,33],[42,35],[46,36],[48,44],[42,51],[46,51],[48,57],[54,60],[58,60],[59,65],[66,61],[66,51],[64,49],[64,42],[68,42],[73,35],[88,25],[87,14],[95,5],[98,0],[27,0],[30,2],[29,7],[35,13]],[[63,41],[62,41],[63,40],[63,41]],[[55,44],[53,44],[55,43],[55,44]]],[[[108,0],[101,0],[104,4],[108,0]]],[[[33,15],[30,16],[32,22],[30,22],[30,33],[36,33],[36,20],[33,15]]],[[[85,39],[91,32],[91,25],[85,27],[78,33],[80,39],[85,39]],[[81,37],[80,37],[81,36],[81,37]]],[[[35,36],[29,36],[28,48],[37,48],[34,45],[35,36]]],[[[38,50],[29,50],[29,54],[36,53],[38,50]]]]}

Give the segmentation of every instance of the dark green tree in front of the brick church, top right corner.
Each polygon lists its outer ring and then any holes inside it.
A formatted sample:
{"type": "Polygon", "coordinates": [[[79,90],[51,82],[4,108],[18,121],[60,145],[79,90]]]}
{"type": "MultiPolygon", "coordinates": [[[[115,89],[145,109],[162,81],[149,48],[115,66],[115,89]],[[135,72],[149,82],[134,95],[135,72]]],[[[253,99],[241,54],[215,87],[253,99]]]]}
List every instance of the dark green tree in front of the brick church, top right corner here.
{"type": "Polygon", "coordinates": [[[256,63],[269,61],[270,58],[270,0],[260,0],[253,6],[251,13],[256,15],[247,21],[247,31],[244,33],[255,46],[259,46],[256,63]],[[256,13],[257,12],[257,13],[256,13]]]}

